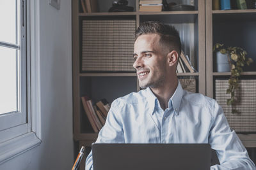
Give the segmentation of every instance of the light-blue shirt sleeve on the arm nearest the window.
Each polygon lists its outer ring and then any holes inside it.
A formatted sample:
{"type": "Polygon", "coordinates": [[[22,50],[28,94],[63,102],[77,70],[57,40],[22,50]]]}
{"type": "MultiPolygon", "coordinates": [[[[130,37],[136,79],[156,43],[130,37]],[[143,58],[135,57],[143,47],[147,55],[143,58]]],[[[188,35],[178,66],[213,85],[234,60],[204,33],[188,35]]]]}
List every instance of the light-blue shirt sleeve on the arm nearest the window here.
{"type": "MultiPolygon", "coordinates": [[[[108,117],[104,127],[99,132],[97,141],[95,143],[124,143],[124,131],[122,127],[122,118],[120,116],[120,103],[113,101],[108,112],[108,117]]],[[[122,106],[121,106],[122,107],[122,106]]],[[[92,151],[86,158],[86,170],[93,170],[92,151]]]]}

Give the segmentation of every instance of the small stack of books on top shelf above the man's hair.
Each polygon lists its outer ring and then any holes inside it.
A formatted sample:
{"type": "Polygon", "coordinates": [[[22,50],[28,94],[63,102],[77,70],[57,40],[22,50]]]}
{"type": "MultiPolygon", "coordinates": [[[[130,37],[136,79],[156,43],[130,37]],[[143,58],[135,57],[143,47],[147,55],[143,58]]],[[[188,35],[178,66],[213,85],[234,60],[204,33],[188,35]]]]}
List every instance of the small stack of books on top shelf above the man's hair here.
{"type": "Polygon", "coordinates": [[[162,11],[162,0],[140,0],[139,11],[162,11]]]}

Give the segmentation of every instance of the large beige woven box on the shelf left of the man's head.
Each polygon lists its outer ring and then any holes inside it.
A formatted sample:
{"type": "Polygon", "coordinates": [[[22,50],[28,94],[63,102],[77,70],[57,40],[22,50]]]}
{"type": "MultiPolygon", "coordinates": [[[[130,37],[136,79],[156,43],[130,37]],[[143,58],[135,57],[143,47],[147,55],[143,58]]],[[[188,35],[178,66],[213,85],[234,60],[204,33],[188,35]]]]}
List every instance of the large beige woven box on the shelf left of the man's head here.
{"type": "Polygon", "coordinates": [[[82,71],[134,72],[135,20],[83,20],[82,71]]]}

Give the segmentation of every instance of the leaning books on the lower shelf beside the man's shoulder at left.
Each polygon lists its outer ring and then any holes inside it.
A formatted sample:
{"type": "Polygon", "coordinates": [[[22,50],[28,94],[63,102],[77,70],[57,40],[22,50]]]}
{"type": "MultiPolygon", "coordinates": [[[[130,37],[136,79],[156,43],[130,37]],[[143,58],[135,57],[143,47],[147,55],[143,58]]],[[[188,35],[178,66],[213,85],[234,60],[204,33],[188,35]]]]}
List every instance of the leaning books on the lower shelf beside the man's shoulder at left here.
{"type": "Polygon", "coordinates": [[[110,106],[106,99],[98,101],[96,104],[92,103],[92,100],[88,96],[81,97],[84,112],[88,117],[92,129],[94,132],[99,132],[106,122],[106,117],[110,106]]]}

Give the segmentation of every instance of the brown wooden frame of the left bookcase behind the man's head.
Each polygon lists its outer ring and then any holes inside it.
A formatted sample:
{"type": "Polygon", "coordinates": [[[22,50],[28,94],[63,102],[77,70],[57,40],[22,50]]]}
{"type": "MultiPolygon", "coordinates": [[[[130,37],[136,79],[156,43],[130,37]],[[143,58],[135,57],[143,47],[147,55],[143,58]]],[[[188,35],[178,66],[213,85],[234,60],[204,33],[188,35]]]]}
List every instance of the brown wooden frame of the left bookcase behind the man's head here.
{"type": "MultiPolygon", "coordinates": [[[[111,1],[99,0],[100,11],[97,13],[83,13],[80,0],[72,0],[72,56],[73,56],[73,95],[74,95],[74,139],[76,141],[88,141],[97,138],[97,134],[93,133],[90,125],[84,125],[83,118],[86,118],[83,114],[83,108],[81,106],[81,95],[84,93],[93,93],[90,88],[99,82],[101,78],[109,78],[111,80],[118,80],[122,78],[130,78],[134,80],[132,85],[135,84],[133,91],[140,90],[136,73],[84,73],[81,71],[81,20],[86,18],[122,18],[130,17],[136,20],[136,27],[140,25],[140,22],[145,20],[159,20],[167,24],[193,24],[195,25],[194,32],[187,32],[187,34],[195,34],[195,67],[198,72],[196,73],[178,73],[178,76],[195,77],[198,83],[198,92],[206,94],[205,89],[205,1],[195,0],[194,11],[161,11],[161,12],[141,12],[138,11],[139,0],[129,1],[134,7],[133,12],[107,12],[106,8],[103,8],[106,3],[111,1]],[[102,7],[102,8],[101,8],[102,7]],[[103,10],[102,10],[103,9],[103,10]],[[84,89],[86,87],[86,89],[84,89]],[[85,91],[85,92],[84,92],[85,91]]],[[[129,5],[129,4],[128,4],[129,5]]],[[[109,6],[110,7],[110,6],[109,6]]],[[[106,83],[106,82],[104,82],[106,83]]],[[[120,82],[122,83],[122,82],[120,82]]],[[[116,90],[116,89],[106,89],[116,90]]],[[[94,94],[88,95],[94,97],[94,94]]],[[[108,96],[106,96],[108,97],[108,96]]],[[[109,101],[111,102],[111,101],[109,101]]],[[[88,123],[88,121],[87,121],[88,123]]]]}

